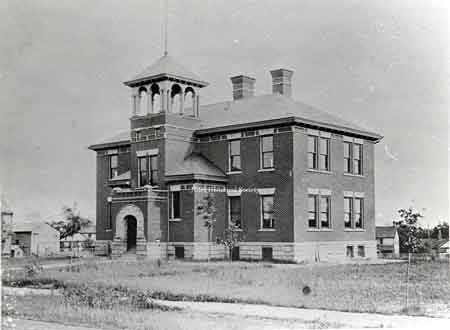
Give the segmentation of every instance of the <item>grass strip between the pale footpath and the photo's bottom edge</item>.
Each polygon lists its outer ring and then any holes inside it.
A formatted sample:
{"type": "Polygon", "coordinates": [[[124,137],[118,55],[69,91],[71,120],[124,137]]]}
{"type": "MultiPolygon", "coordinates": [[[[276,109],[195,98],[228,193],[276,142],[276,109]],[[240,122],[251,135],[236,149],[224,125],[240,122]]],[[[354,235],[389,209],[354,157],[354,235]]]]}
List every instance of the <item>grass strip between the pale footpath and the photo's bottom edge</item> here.
{"type": "Polygon", "coordinates": [[[273,329],[341,328],[342,324],[324,320],[308,322],[280,321],[272,319],[241,318],[229,315],[206,315],[183,311],[162,311],[158,308],[135,309],[115,306],[111,309],[71,306],[64,304],[63,297],[18,297],[19,317],[58,323],[85,325],[98,328],[132,330],[240,330],[246,328],[273,329]]]}

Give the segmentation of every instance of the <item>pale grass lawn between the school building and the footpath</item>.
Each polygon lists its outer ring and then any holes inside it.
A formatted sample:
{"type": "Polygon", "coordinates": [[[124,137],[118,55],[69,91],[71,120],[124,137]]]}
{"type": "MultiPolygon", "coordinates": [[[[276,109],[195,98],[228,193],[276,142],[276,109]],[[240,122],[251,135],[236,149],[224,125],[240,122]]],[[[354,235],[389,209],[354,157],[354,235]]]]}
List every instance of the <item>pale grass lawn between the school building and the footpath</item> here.
{"type": "MultiPolygon", "coordinates": [[[[449,309],[448,263],[414,263],[412,314],[449,309]]],[[[13,274],[14,280],[24,278],[13,274]]],[[[90,263],[46,270],[35,282],[120,287],[169,299],[240,301],[354,312],[402,313],[406,264],[286,265],[244,262],[90,263]],[[305,286],[311,289],[304,293],[305,286]]],[[[5,283],[7,284],[7,283],[5,283]]]]}

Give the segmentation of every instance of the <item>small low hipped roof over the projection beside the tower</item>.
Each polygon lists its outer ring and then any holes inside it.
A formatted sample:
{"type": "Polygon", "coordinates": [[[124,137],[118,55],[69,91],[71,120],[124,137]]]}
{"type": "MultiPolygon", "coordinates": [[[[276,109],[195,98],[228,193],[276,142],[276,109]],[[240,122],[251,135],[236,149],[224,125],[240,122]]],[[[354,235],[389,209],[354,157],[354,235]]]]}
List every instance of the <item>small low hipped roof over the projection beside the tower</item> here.
{"type": "Polygon", "coordinates": [[[172,180],[170,177],[174,177],[173,180],[180,178],[227,180],[222,170],[197,153],[187,156],[179,167],[169,170],[166,177],[168,180],[172,180]]]}

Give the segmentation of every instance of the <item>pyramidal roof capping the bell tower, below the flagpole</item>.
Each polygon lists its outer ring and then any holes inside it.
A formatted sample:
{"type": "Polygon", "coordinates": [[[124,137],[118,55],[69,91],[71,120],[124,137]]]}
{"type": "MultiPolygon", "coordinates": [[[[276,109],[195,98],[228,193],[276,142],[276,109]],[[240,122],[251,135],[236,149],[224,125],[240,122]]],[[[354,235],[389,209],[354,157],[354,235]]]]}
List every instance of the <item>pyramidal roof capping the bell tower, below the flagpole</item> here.
{"type": "Polygon", "coordinates": [[[160,80],[161,78],[183,80],[200,87],[208,85],[207,82],[202,81],[199,76],[169,55],[162,56],[133,79],[126,81],[125,85],[133,87],[144,81],[160,80]]]}

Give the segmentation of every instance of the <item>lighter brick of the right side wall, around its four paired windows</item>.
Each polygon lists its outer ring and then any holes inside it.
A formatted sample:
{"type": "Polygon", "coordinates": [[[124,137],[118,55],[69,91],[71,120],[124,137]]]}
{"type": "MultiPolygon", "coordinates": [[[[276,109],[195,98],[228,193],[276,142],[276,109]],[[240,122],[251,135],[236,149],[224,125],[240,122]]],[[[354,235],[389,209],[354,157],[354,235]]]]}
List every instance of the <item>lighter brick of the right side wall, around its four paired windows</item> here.
{"type": "Polygon", "coordinates": [[[294,215],[295,241],[375,240],[374,144],[364,141],[363,176],[344,175],[344,149],[341,135],[331,137],[331,171],[319,173],[307,167],[307,134],[294,134],[294,215]],[[308,229],[308,188],[331,190],[331,231],[308,229]],[[364,193],[364,231],[344,230],[344,191],[364,193]]]}

